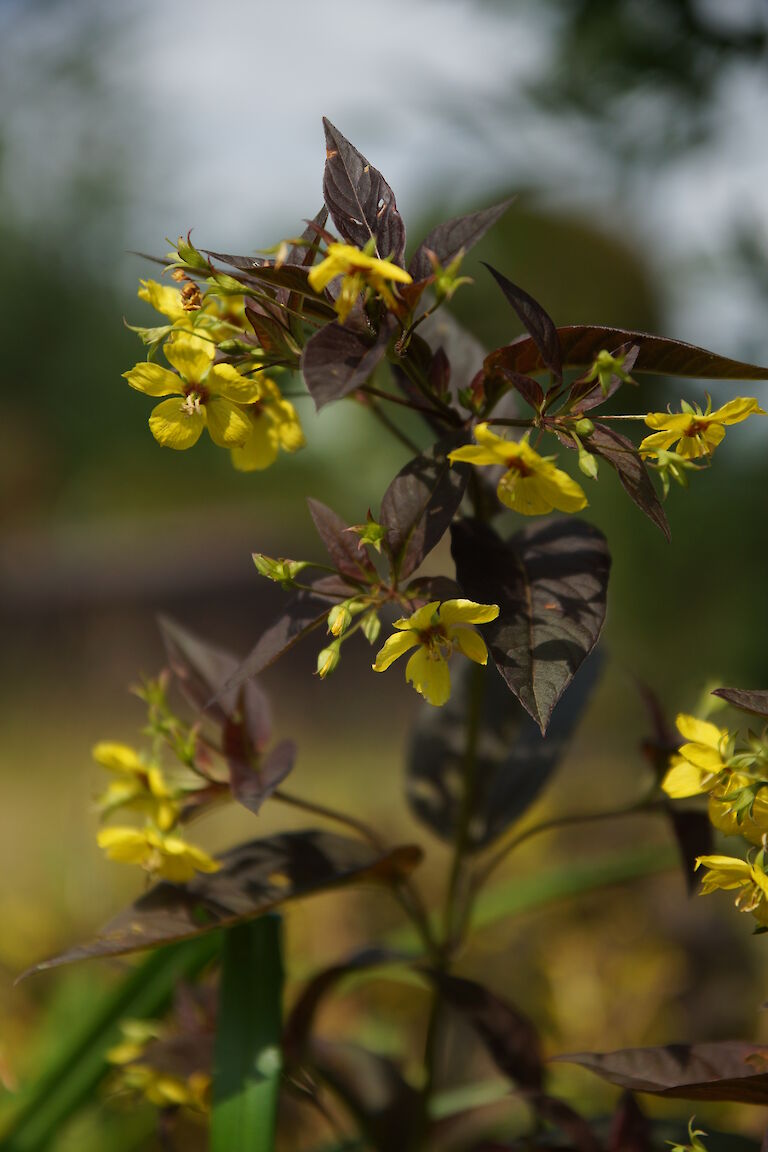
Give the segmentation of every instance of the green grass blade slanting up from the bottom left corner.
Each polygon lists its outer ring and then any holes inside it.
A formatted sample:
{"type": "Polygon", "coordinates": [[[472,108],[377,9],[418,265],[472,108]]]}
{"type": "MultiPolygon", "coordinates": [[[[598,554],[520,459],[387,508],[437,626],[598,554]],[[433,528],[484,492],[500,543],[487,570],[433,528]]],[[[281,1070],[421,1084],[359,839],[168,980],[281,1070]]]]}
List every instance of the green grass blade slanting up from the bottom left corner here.
{"type": "Polygon", "coordinates": [[[43,1152],[93,1096],[109,1070],[106,1051],[120,1039],[120,1021],[159,1015],[178,980],[191,979],[221,948],[219,933],[169,945],[147,958],[106,996],[81,1031],[62,1046],[30,1087],[0,1135],[0,1152],[43,1152]]]}

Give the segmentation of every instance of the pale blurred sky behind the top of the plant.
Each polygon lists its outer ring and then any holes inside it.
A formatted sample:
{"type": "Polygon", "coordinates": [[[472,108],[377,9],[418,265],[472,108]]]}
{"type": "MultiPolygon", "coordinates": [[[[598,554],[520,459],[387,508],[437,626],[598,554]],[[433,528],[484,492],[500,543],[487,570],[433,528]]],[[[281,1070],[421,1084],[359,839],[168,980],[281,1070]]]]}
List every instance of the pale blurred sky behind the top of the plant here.
{"type": "MultiPolygon", "coordinates": [[[[753,7],[733,0],[729,13],[753,7]]],[[[707,146],[628,177],[575,116],[525,98],[550,59],[553,6],[134,0],[105,12],[73,0],[31,12],[0,6],[5,191],[24,227],[71,221],[84,258],[120,283],[137,274],[126,250],[160,252],[190,227],[230,251],[295,232],[319,207],[325,114],[385,173],[406,219],[433,197],[463,210],[535,184],[543,204],[629,229],[653,253],[676,331],[744,354],[755,319],[744,288],[724,266],[701,272],[736,222],[768,257],[765,69],[723,74],[707,146]]],[[[659,114],[652,96],[617,109],[640,135],[659,114]]]]}

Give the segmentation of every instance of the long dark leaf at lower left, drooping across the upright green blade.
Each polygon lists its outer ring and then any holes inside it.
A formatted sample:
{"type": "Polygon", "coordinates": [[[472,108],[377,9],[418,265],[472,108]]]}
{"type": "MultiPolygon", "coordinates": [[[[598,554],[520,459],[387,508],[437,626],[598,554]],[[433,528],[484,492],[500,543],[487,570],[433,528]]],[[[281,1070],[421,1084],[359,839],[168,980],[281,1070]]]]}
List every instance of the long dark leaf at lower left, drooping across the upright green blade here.
{"type": "Polygon", "coordinates": [[[330,832],[283,832],[231,848],[221,870],[188,884],[161,881],[106,925],[94,940],[77,945],[24,975],[77,960],[120,956],[230,927],[283,904],[355,880],[393,884],[420,861],[415,846],[377,852],[368,844],[330,832]]]}

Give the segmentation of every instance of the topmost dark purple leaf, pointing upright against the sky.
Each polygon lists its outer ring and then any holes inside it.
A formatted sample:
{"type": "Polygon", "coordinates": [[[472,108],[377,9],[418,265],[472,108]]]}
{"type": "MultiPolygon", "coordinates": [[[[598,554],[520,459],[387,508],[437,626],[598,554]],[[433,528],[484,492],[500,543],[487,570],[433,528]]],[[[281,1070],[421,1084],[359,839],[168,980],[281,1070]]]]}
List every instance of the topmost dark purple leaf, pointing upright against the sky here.
{"type": "Polygon", "coordinates": [[[405,225],[395,194],[381,173],[325,116],[326,167],[322,195],[333,222],[348,244],[370,240],[381,259],[403,264],[405,225]]]}

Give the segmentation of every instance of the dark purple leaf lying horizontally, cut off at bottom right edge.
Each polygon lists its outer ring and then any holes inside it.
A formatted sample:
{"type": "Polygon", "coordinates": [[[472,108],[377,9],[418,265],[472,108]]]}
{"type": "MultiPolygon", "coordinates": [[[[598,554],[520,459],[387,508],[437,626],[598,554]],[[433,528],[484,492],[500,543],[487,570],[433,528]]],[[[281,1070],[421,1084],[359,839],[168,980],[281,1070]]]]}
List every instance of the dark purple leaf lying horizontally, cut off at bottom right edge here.
{"type": "Polygon", "coordinates": [[[632,1092],[768,1104],[768,1045],[722,1040],[557,1056],[632,1092]]]}

